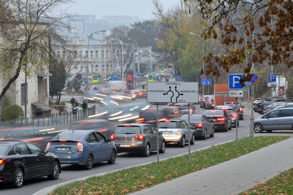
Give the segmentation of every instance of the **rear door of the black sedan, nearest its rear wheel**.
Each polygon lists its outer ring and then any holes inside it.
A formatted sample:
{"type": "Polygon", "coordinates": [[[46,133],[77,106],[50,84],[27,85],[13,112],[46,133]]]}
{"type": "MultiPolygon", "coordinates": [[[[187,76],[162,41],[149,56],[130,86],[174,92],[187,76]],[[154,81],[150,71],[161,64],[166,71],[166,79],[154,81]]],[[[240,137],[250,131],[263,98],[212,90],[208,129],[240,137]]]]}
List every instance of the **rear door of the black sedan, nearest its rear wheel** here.
{"type": "Polygon", "coordinates": [[[21,162],[24,168],[25,178],[36,176],[38,173],[35,171],[36,160],[35,157],[31,154],[28,147],[25,143],[20,143],[15,147],[15,151],[20,155],[21,162]]]}

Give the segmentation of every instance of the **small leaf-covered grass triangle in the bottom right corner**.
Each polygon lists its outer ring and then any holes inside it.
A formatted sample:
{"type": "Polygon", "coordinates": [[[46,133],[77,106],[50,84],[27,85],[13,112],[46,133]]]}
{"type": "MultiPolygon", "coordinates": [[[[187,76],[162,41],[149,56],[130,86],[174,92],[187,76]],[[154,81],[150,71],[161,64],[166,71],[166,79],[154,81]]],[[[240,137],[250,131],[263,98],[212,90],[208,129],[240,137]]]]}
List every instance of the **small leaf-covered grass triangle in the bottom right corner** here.
{"type": "Polygon", "coordinates": [[[258,183],[255,187],[242,192],[240,195],[292,195],[293,169],[289,169],[278,176],[274,176],[264,184],[258,183]]]}

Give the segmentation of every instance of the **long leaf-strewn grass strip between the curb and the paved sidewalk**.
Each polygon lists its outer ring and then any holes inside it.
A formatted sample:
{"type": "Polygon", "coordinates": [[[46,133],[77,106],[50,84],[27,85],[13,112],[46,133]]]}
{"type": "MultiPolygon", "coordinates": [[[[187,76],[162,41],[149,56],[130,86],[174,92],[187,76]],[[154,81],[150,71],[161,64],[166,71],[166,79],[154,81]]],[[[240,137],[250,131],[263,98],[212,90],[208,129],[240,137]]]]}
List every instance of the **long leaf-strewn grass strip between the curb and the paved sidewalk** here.
{"type": "Polygon", "coordinates": [[[245,137],[238,140],[238,147],[236,147],[235,141],[232,141],[191,153],[190,165],[188,165],[188,155],[169,158],[160,161],[159,164],[153,162],[145,166],[72,182],[56,188],[49,195],[125,195],[249,154],[288,138],[281,136],[245,137]]]}

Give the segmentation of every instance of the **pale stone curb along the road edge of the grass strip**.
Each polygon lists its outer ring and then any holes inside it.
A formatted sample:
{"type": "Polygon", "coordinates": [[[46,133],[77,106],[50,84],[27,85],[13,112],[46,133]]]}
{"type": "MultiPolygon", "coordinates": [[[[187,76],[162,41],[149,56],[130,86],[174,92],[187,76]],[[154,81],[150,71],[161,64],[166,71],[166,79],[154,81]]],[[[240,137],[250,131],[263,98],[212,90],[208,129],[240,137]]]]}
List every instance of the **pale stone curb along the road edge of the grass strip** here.
{"type": "MultiPolygon", "coordinates": [[[[205,150],[205,149],[209,149],[212,146],[222,145],[222,144],[229,143],[229,142],[232,142],[232,141],[235,141],[235,139],[232,139],[230,141],[225,141],[225,142],[222,142],[222,143],[218,143],[218,144],[214,144],[214,145],[211,145],[211,146],[208,146],[208,147],[205,147],[205,148],[200,148],[200,149],[197,149],[197,150],[192,151],[191,153],[197,152],[197,151],[201,151],[201,150],[205,150]]],[[[180,155],[176,155],[176,156],[171,156],[171,157],[163,158],[163,159],[160,159],[159,161],[167,160],[169,158],[184,156],[184,155],[187,155],[187,154],[188,154],[188,152],[187,153],[180,154],[180,155]]],[[[114,171],[108,171],[108,172],[101,173],[101,174],[95,174],[95,175],[91,175],[91,176],[81,177],[81,178],[78,178],[78,179],[73,179],[73,180],[70,180],[70,181],[65,181],[65,182],[60,183],[60,184],[56,184],[56,185],[53,185],[53,186],[46,187],[46,188],[44,188],[42,190],[39,190],[38,192],[36,192],[36,193],[34,193],[32,195],[47,195],[48,193],[50,193],[51,191],[53,191],[55,188],[60,187],[60,186],[63,186],[63,185],[66,185],[66,184],[71,183],[71,182],[74,182],[74,181],[84,181],[85,179],[87,179],[89,177],[103,176],[103,175],[108,174],[108,173],[114,173],[114,172],[118,172],[118,171],[121,171],[121,170],[129,169],[129,168],[132,168],[132,167],[144,166],[144,165],[147,165],[147,164],[151,164],[153,162],[157,162],[157,160],[154,160],[154,161],[151,161],[151,162],[146,162],[146,163],[139,164],[139,165],[135,165],[135,166],[125,167],[125,168],[122,168],[122,169],[117,169],[117,170],[114,170],[114,171]]]]}

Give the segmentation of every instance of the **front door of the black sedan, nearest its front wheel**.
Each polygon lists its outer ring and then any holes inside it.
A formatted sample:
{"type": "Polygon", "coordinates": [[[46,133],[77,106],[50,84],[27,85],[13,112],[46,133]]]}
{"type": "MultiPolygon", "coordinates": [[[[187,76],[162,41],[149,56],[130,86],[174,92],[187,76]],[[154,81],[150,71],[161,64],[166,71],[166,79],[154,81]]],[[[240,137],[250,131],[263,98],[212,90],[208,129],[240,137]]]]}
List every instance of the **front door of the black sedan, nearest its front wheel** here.
{"type": "Polygon", "coordinates": [[[26,143],[30,149],[32,156],[36,160],[35,171],[38,175],[46,175],[51,172],[51,157],[45,156],[42,149],[32,143],[26,143]]]}

